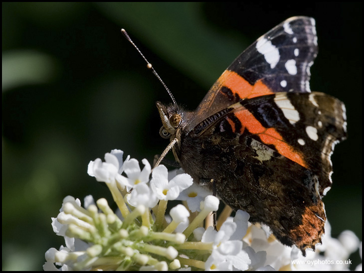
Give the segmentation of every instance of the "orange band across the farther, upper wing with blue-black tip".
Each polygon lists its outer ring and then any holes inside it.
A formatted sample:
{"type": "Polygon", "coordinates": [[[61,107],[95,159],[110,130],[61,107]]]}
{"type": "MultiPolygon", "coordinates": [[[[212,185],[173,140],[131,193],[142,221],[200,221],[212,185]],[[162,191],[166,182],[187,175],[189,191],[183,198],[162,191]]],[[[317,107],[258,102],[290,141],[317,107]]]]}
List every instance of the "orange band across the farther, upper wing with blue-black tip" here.
{"type": "Polygon", "coordinates": [[[233,71],[225,70],[218,82],[229,88],[233,94],[238,94],[241,99],[273,94],[273,92],[261,81],[250,85],[243,77],[233,71]]]}

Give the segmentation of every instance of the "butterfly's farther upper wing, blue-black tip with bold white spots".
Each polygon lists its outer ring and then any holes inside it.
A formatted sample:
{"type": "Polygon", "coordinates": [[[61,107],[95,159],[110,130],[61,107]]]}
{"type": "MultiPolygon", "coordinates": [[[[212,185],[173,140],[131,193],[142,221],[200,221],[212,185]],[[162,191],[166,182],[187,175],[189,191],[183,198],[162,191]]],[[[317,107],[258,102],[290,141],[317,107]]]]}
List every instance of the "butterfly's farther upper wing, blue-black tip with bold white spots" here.
{"type": "Polygon", "coordinates": [[[188,128],[242,99],[277,92],[310,92],[310,67],[317,52],[315,20],[304,16],[285,20],[224,71],[194,112],[188,128]]]}

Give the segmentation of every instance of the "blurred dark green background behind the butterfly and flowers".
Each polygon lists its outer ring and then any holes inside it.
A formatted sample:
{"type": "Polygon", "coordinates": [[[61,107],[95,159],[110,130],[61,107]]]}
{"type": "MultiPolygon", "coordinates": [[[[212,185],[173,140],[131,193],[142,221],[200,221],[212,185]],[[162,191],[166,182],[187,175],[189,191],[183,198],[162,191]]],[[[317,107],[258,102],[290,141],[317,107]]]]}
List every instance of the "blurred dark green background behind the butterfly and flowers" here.
{"type": "Polygon", "coordinates": [[[243,49],[294,15],[316,19],[311,89],[347,106],[324,199],[332,233],[362,238],[361,3],[2,3],[2,269],[41,270],[64,244],[50,217],[66,195],[111,200],[90,160],[120,148],[152,162],[168,143],[155,102],[170,98],[121,27],[192,110],[243,49]]]}

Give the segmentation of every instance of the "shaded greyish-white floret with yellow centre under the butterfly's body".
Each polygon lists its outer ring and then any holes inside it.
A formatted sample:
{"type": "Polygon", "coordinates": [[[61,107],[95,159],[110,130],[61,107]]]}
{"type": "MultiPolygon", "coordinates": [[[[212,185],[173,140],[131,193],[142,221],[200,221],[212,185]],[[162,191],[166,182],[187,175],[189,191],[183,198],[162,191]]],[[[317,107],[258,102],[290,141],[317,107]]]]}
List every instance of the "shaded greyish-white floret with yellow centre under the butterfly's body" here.
{"type": "Polygon", "coordinates": [[[177,200],[187,202],[188,209],[191,212],[200,211],[199,205],[207,195],[211,194],[206,188],[193,183],[190,187],[183,190],[178,196],[177,200]]]}

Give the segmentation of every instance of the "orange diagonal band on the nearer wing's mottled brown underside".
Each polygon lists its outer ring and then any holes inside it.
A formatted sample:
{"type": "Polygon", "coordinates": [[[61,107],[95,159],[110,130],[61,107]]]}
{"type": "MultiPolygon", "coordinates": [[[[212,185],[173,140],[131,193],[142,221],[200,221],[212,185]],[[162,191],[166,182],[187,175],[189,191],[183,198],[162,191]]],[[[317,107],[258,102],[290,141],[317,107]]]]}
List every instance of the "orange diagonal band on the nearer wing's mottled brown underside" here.
{"type": "Polygon", "coordinates": [[[265,128],[261,123],[246,109],[234,113],[242,124],[241,132],[246,128],[250,133],[257,135],[265,144],[273,144],[277,151],[283,156],[295,161],[301,166],[308,168],[305,160],[300,153],[296,152],[291,145],[286,143],[283,137],[274,128],[265,128]]]}

